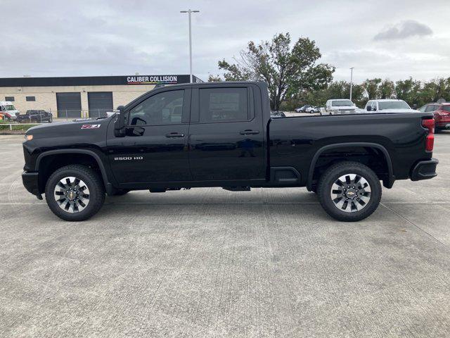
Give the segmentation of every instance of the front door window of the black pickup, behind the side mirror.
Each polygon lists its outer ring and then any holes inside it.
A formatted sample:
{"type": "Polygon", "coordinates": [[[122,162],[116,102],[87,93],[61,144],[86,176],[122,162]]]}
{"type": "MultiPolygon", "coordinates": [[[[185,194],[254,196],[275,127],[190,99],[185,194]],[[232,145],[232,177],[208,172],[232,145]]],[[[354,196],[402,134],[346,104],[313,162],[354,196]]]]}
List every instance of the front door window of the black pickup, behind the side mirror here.
{"type": "Polygon", "coordinates": [[[129,111],[129,125],[176,125],[181,123],[184,90],[150,96],[129,111]]]}

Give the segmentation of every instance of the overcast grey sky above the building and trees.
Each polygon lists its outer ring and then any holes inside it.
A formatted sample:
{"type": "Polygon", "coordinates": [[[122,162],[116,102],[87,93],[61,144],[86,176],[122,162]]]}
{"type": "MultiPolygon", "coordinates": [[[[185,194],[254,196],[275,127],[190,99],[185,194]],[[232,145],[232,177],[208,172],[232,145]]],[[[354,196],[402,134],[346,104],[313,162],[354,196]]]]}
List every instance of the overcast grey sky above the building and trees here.
{"type": "Polygon", "coordinates": [[[0,77],[188,74],[207,80],[248,41],[309,37],[335,80],[450,76],[450,1],[0,0],[0,77]]]}

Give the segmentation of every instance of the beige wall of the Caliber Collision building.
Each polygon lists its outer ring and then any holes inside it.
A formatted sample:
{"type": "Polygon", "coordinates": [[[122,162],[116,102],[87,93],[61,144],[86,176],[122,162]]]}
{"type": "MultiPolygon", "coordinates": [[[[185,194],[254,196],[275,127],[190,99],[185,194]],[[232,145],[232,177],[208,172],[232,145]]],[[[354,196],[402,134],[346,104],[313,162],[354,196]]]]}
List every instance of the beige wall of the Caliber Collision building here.
{"type": "MultiPolygon", "coordinates": [[[[0,101],[5,96],[14,96],[14,106],[20,111],[44,109],[56,112],[56,93],[81,92],[82,109],[88,110],[88,92],[113,92],[113,106],[128,104],[136,97],[155,87],[154,84],[112,85],[112,86],[66,86],[66,87],[0,87],[0,101]],[[35,96],[36,101],[26,101],[25,96],[35,96]]],[[[56,116],[56,113],[53,113],[56,116]]]]}

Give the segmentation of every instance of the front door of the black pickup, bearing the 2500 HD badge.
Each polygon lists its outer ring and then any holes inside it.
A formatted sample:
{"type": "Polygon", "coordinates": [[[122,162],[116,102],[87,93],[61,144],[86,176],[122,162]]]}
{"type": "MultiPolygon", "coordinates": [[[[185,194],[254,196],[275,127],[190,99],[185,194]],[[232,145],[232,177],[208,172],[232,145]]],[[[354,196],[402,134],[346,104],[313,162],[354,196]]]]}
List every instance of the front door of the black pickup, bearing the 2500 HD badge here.
{"type": "Polygon", "coordinates": [[[125,137],[108,139],[108,157],[117,182],[191,180],[190,105],[191,89],[167,89],[125,111],[125,137]]]}

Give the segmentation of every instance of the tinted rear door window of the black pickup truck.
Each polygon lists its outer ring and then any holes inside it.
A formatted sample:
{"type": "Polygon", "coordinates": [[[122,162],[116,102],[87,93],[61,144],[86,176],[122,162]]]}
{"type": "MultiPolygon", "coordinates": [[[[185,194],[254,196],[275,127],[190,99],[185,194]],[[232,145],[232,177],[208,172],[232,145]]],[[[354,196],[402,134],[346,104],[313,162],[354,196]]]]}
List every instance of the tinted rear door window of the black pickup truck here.
{"type": "Polygon", "coordinates": [[[246,120],[250,120],[247,88],[200,89],[200,123],[246,120]]]}

